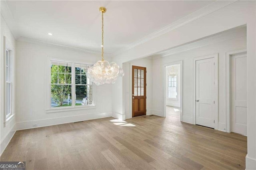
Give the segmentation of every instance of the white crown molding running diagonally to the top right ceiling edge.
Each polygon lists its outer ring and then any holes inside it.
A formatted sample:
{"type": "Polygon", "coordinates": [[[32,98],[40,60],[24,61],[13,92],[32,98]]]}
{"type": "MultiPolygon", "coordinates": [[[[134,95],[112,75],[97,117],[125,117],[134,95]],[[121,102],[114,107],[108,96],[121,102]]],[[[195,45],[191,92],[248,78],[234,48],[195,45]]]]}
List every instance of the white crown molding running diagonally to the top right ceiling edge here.
{"type": "Polygon", "coordinates": [[[146,43],[154,38],[157,38],[159,36],[162,36],[172,30],[175,30],[176,28],[179,28],[181,26],[184,26],[190,22],[193,22],[194,20],[197,20],[199,18],[202,18],[208,14],[211,14],[212,12],[215,12],[217,10],[220,10],[221,8],[224,8],[230,4],[233,4],[234,2],[237,2],[238,0],[234,1],[215,1],[212,2],[211,4],[208,4],[207,6],[204,6],[203,8],[200,8],[199,10],[196,10],[195,12],[175,21],[172,22],[171,24],[165,26],[164,28],[161,28],[160,30],[157,30],[151,34],[148,34],[147,36],[130,43],[129,45],[126,45],[122,49],[116,51],[115,53],[112,53],[112,56],[116,56],[120,53],[123,53],[124,51],[127,51],[129,49],[132,49],[138,45],[141,45],[143,43],[146,43]]]}

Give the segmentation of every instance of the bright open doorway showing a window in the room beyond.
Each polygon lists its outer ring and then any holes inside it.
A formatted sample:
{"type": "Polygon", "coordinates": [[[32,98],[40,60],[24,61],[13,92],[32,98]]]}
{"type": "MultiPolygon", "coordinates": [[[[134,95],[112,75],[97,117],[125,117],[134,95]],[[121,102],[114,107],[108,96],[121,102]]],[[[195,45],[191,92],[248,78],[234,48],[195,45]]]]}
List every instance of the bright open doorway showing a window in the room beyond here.
{"type": "Polygon", "coordinates": [[[164,65],[165,117],[182,121],[182,61],[164,65]]]}

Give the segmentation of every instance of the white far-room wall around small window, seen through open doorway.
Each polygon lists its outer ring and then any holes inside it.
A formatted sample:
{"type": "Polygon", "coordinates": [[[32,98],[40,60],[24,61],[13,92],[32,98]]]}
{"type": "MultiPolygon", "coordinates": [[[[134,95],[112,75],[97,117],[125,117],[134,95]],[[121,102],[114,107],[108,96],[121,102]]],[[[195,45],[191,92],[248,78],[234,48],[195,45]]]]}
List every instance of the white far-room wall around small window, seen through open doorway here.
{"type": "Polygon", "coordinates": [[[166,75],[165,75],[165,85],[166,85],[166,106],[174,106],[174,107],[180,107],[180,64],[168,66],[166,69],[166,75]],[[173,69],[172,69],[173,67],[173,69]],[[177,73],[177,99],[170,99],[168,98],[168,74],[170,72],[174,71],[174,73],[177,73]]]}

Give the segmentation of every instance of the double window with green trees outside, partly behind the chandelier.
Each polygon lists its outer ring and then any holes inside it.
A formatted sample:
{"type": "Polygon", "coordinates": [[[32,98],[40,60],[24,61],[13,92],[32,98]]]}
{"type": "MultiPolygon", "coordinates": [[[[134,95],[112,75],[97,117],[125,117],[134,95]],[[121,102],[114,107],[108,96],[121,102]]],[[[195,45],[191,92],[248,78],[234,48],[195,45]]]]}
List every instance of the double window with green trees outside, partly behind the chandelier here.
{"type": "Polygon", "coordinates": [[[93,105],[92,81],[86,77],[88,64],[51,60],[51,107],[93,105]]]}

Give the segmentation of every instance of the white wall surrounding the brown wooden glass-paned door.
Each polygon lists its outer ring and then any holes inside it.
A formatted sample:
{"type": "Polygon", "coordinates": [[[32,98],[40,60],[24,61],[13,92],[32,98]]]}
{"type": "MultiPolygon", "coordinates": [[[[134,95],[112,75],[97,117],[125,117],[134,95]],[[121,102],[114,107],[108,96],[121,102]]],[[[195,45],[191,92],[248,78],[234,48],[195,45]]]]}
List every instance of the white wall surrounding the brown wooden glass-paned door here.
{"type": "Polygon", "coordinates": [[[152,114],[152,60],[138,59],[124,63],[125,118],[132,118],[132,65],[146,67],[146,115],[152,114]]]}

